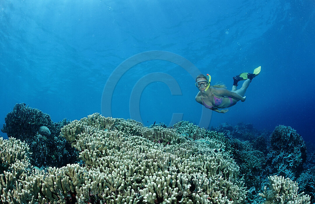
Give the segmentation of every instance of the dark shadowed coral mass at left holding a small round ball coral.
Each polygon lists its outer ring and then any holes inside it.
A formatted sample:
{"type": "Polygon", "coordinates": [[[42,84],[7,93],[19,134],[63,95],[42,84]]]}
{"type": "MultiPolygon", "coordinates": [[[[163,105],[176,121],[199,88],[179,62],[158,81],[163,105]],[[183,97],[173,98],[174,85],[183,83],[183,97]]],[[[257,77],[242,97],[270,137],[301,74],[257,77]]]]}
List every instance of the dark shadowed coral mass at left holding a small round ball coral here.
{"type": "Polygon", "coordinates": [[[16,104],[5,117],[1,131],[25,141],[33,153],[33,166],[64,166],[77,160],[78,152],[71,148],[65,138],[60,137],[60,129],[70,121],[54,123],[48,114],[25,103],[16,104]]]}

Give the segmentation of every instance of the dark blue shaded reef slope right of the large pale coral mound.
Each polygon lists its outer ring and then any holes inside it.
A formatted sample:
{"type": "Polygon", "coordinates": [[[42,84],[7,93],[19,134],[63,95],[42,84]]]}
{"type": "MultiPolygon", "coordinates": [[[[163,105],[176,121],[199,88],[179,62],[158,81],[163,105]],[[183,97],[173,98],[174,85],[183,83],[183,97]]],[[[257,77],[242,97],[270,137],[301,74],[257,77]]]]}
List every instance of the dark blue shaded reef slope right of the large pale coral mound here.
{"type": "Polygon", "coordinates": [[[266,185],[267,177],[275,174],[291,180],[298,178],[299,193],[304,191],[309,194],[313,203],[315,195],[315,189],[312,187],[313,171],[303,172],[303,169],[313,169],[315,157],[313,152],[309,153],[306,162],[305,143],[295,130],[280,125],[270,137],[267,137],[268,132],[258,131],[251,125],[243,123],[234,127],[224,123],[212,129],[222,131],[230,137],[228,140],[230,151],[240,166],[240,173],[244,174],[245,186],[249,188],[247,197],[249,203],[254,201],[261,203],[257,192],[266,185]]]}

